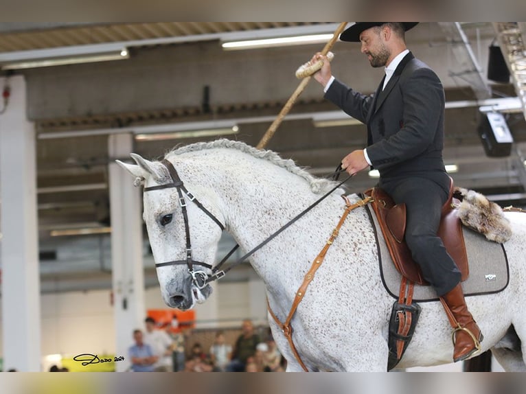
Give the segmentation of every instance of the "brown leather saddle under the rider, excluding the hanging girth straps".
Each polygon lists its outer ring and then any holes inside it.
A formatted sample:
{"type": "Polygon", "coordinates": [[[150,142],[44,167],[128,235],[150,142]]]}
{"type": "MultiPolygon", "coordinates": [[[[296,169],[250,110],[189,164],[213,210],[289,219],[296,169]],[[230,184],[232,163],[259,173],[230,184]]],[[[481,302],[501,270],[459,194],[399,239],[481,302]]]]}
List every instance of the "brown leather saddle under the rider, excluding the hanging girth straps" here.
{"type": "MultiPolygon", "coordinates": [[[[453,209],[453,179],[451,179],[449,197],[442,207],[442,219],[437,235],[444,242],[444,246],[449,255],[457,264],[461,271],[461,280],[468,279],[468,256],[464,235],[462,233],[461,221],[457,215],[457,209],[453,209]]],[[[371,206],[380,229],[384,235],[387,248],[396,266],[396,269],[403,277],[420,285],[428,285],[424,279],[420,266],[411,257],[411,251],[404,241],[406,227],[406,207],[405,204],[395,204],[393,199],[382,189],[374,187],[365,192],[366,196],[371,196],[373,201],[371,206]]]]}

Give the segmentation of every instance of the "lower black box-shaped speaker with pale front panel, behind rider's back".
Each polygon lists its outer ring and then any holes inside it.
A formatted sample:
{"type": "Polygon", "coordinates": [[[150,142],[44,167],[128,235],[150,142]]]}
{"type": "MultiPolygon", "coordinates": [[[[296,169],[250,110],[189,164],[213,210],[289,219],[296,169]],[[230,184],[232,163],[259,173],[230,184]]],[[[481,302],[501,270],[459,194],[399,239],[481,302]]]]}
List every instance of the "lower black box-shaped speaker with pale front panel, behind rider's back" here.
{"type": "Polygon", "coordinates": [[[488,157],[510,156],[513,137],[501,113],[483,114],[477,131],[488,157]]]}

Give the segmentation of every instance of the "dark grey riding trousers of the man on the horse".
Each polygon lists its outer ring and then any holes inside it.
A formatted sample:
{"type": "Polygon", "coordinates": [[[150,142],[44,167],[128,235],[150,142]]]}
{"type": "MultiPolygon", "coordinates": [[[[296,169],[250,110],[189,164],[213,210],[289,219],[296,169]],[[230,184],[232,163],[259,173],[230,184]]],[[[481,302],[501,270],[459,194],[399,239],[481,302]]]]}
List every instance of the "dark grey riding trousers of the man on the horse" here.
{"type": "Polygon", "coordinates": [[[407,246],[422,269],[424,279],[431,283],[439,297],[455,288],[461,278],[457,265],[437,236],[442,206],[448,198],[449,178],[445,173],[444,176],[435,176],[442,185],[420,176],[380,179],[378,184],[396,204],[406,204],[407,246]]]}

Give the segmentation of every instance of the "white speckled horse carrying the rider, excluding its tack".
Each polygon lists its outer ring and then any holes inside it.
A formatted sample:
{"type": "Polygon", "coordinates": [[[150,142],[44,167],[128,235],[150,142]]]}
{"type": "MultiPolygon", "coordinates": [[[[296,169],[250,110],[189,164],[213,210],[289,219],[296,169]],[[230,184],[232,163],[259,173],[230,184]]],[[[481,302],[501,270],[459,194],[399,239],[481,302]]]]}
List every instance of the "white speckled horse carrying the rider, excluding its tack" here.
{"type": "MultiPolygon", "coordinates": [[[[227,140],[194,144],[166,158],[176,167],[185,187],[225,224],[244,251],[264,241],[333,185],[312,178],[273,152],[227,140]]],[[[145,186],[170,182],[160,163],[136,155],[134,159],[138,165],[122,165],[144,178],[145,186]]],[[[249,258],[265,283],[271,309],[282,322],[312,260],[345,209],[341,192],[328,196],[249,258]]],[[[358,196],[350,199],[358,200],[358,196]]],[[[187,209],[194,258],[214,264],[220,229],[191,202],[187,202],[187,209]]],[[[185,255],[181,217],[174,189],[144,194],[144,220],[157,263],[185,255]],[[168,213],[174,220],[165,226],[159,224],[159,218],[168,213]]],[[[526,255],[526,222],[520,213],[508,213],[508,217],[514,229],[512,239],[505,244],[510,284],[502,292],[468,297],[466,301],[484,334],[483,351],[499,343],[514,326],[516,335],[502,341],[504,347],[513,349],[494,348],[494,354],[506,369],[524,371],[526,314],[521,308],[526,305],[526,296],[521,289],[526,268],[521,263],[526,255]],[[516,349],[517,338],[523,340],[522,349],[516,349]]],[[[163,299],[173,308],[192,308],[209,296],[209,286],[196,288],[185,266],[159,267],[157,275],[163,299]]],[[[365,208],[360,207],[347,217],[292,320],[293,340],[301,360],[311,371],[386,371],[393,301],[380,279],[374,230],[365,208]]],[[[442,305],[436,301],[421,306],[418,326],[399,368],[452,361],[451,329],[442,305]]],[[[270,316],[269,322],[288,362],[287,370],[301,371],[270,316]]]]}

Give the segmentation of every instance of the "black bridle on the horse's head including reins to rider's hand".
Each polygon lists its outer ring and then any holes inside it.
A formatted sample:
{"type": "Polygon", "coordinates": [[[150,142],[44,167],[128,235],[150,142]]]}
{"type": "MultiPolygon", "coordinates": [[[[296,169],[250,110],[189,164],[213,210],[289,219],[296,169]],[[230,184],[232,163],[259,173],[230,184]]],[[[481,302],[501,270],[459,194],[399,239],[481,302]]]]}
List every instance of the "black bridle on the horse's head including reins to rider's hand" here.
{"type": "MultiPolygon", "coordinates": [[[[329,192],[325,193],[323,196],[321,196],[321,198],[313,202],[312,205],[310,205],[307,209],[305,209],[304,211],[301,211],[297,216],[295,216],[289,222],[284,224],[283,227],[275,231],[272,235],[266,238],[266,240],[258,244],[258,246],[255,246],[255,248],[251,249],[251,251],[249,251],[248,253],[245,253],[242,257],[237,259],[236,262],[232,263],[225,270],[220,270],[222,264],[224,264],[227,261],[227,259],[239,248],[239,244],[236,244],[236,246],[234,246],[231,249],[231,251],[229,251],[229,253],[227,253],[227,255],[225,255],[225,257],[223,257],[222,260],[215,267],[212,267],[210,264],[206,264],[204,262],[197,262],[196,260],[192,259],[192,242],[190,241],[190,224],[188,222],[188,213],[186,209],[187,205],[186,205],[186,200],[185,200],[184,195],[187,196],[187,198],[190,201],[194,202],[194,204],[197,205],[197,207],[201,209],[201,211],[206,213],[207,216],[211,218],[211,220],[214,220],[214,222],[216,222],[216,224],[219,226],[221,231],[225,229],[225,226],[220,222],[220,220],[218,220],[218,218],[216,218],[216,216],[214,216],[208,209],[206,209],[203,206],[203,204],[201,204],[201,202],[199,202],[192,193],[188,192],[183,181],[181,181],[181,178],[179,178],[179,174],[177,174],[177,171],[175,170],[174,165],[172,165],[170,161],[164,159],[161,161],[161,163],[168,169],[168,172],[170,173],[170,176],[172,177],[172,183],[165,183],[164,185],[159,185],[159,186],[145,187],[144,192],[151,192],[153,190],[161,190],[161,189],[169,189],[172,187],[174,187],[177,190],[177,194],[179,196],[179,205],[181,205],[181,210],[183,211],[183,220],[185,222],[186,259],[185,260],[174,260],[172,262],[156,263],[155,268],[159,268],[163,266],[176,266],[176,265],[186,264],[188,268],[188,273],[190,273],[190,275],[192,276],[192,281],[194,285],[199,289],[205,288],[205,286],[207,286],[207,284],[210,283],[211,281],[215,281],[216,279],[224,277],[225,274],[229,270],[231,270],[233,267],[237,266],[238,264],[241,264],[242,262],[244,262],[244,260],[247,259],[247,257],[253,255],[253,253],[255,253],[260,248],[262,248],[264,245],[266,245],[268,242],[273,240],[277,235],[279,235],[279,233],[282,233],[282,231],[284,231],[291,224],[296,222],[299,218],[301,218],[301,216],[304,216],[308,211],[316,207],[321,201],[323,201],[332,192],[334,192],[334,190],[338,189],[341,185],[343,185],[343,183],[347,182],[352,177],[352,175],[350,175],[347,178],[345,178],[344,181],[341,181],[338,185],[330,189],[329,192]],[[194,266],[203,266],[205,268],[209,268],[211,270],[211,275],[201,270],[194,271],[194,266]]],[[[333,175],[333,180],[336,180],[337,176],[343,171],[345,170],[341,169],[341,165],[337,167],[333,175]]]]}

